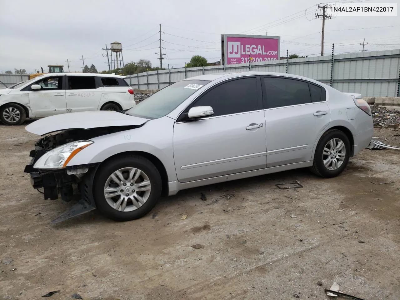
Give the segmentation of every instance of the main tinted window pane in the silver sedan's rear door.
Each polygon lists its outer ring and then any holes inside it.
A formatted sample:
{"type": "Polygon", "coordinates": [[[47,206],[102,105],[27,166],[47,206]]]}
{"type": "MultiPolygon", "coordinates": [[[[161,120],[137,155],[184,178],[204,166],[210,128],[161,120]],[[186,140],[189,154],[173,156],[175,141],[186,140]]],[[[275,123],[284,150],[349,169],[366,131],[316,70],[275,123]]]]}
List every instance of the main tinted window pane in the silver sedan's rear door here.
{"type": "Polygon", "coordinates": [[[266,108],[304,104],[311,102],[308,83],[288,78],[264,77],[266,108]]]}

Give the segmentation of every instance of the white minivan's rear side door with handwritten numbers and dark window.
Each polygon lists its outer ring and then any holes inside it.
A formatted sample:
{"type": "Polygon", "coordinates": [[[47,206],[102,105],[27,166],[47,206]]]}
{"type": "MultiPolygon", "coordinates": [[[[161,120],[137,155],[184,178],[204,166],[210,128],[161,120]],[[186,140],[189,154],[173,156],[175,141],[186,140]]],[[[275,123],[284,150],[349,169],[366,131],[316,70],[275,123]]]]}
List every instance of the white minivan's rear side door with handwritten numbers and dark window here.
{"type": "Polygon", "coordinates": [[[96,84],[94,76],[67,76],[68,112],[97,110],[101,93],[101,87],[96,84]]]}

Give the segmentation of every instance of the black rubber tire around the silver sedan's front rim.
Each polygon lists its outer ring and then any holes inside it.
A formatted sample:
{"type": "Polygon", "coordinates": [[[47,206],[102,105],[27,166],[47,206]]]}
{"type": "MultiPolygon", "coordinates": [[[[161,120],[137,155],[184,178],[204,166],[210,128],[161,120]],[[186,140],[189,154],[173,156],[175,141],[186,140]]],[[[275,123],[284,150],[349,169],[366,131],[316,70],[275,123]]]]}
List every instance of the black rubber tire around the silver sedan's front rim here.
{"type": "Polygon", "coordinates": [[[114,221],[130,221],[145,216],[156,205],[160,198],[161,190],[161,176],[156,166],[154,166],[150,160],[139,155],[127,155],[108,161],[106,164],[100,166],[93,182],[93,196],[97,208],[104,216],[114,221]],[[146,173],[150,181],[151,190],[147,201],[144,202],[142,206],[130,212],[122,212],[112,208],[108,204],[104,196],[104,185],[106,184],[108,177],[116,170],[128,167],[138,168],[146,173]]]}

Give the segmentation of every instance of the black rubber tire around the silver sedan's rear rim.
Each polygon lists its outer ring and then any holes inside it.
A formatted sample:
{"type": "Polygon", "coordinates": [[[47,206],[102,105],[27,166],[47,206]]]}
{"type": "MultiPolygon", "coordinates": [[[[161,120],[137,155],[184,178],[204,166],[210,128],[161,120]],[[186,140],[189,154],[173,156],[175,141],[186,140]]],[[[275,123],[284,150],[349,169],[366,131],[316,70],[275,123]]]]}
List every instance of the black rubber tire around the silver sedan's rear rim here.
{"type": "Polygon", "coordinates": [[[328,130],[321,136],[320,140],[318,141],[314,154],[314,163],[311,167],[311,171],[317,174],[318,176],[324,178],[332,178],[338,176],[340,173],[343,172],[344,168],[346,168],[347,166],[347,163],[350,158],[350,147],[351,147],[350,141],[344,132],[337,129],[328,130]],[[323,151],[328,142],[334,138],[342,140],[344,146],[346,147],[346,152],[345,152],[346,156],[342,162],[342,165],[339,168],[337,168],[336,170],[329,170],[324,165],[323,151]]]}

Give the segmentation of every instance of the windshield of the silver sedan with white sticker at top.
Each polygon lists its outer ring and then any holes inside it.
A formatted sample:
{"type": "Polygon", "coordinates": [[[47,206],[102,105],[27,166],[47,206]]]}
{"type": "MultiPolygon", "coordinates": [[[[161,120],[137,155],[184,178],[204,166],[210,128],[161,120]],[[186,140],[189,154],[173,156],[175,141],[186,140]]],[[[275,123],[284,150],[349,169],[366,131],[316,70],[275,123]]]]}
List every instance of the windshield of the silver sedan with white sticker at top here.
{"type": "Polygon", "coordinates": [[[208,80],[178,81],[143,100],[128,110],[126,114],[146,119],[161,118],[172,112],[196,90],[209,82],[208,80]]]}

